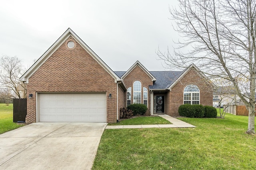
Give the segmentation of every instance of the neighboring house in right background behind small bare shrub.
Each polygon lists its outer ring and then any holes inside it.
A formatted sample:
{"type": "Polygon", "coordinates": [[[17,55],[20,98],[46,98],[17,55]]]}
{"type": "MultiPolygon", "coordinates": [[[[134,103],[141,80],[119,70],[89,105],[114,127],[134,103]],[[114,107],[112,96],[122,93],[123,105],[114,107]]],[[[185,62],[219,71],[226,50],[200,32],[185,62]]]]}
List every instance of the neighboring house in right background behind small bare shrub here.
{"type": "Polygon", "coordinates": [[[213,92],[213,106],[237,105],[240,98],[235,92],[234,86],[220,86],[213,92]]]}

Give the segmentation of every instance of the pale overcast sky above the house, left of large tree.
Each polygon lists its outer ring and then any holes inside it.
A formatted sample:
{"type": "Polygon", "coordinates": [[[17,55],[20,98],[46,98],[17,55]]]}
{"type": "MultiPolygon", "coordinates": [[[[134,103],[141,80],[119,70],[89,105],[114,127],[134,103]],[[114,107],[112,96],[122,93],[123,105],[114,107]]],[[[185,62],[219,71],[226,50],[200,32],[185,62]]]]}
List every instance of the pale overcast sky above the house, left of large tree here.
{"type": "Polygon", "coordinates": [[[137,60],[149,71],[166,70],[157,59],[174,45],[169,6],[176,0],[5,0],[0,5],[0,55],[28,67],[70,27],[112,70],[137,60]]]}

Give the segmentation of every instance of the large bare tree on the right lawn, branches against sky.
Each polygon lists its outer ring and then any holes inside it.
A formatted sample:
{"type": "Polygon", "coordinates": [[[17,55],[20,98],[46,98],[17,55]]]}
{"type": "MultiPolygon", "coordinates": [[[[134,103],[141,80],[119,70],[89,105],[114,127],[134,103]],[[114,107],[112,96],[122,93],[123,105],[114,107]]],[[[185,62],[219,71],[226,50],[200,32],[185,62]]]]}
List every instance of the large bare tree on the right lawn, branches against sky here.
{"type": "Polygon", "coordinates": [[[158,56],[172,68],[194,63],[209,78],[231,83],[249,111],[246,133],[255,134],[256,1],[178,2],[177,8],[170,8],[170,19],[183,40],[174,53],[158,50],[158,56]]]}

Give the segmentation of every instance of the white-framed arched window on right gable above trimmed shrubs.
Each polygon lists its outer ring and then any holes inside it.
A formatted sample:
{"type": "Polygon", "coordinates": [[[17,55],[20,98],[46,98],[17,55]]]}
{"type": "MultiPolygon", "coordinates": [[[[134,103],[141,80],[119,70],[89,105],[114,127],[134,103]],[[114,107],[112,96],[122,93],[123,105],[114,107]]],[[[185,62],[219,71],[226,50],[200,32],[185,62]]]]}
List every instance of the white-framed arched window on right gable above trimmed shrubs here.
{"type": "Polygon", "coordinates": [[[200,90],[198,86],[190,84],[184,88],[184,104],[200,104],[200,90]]]}

